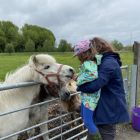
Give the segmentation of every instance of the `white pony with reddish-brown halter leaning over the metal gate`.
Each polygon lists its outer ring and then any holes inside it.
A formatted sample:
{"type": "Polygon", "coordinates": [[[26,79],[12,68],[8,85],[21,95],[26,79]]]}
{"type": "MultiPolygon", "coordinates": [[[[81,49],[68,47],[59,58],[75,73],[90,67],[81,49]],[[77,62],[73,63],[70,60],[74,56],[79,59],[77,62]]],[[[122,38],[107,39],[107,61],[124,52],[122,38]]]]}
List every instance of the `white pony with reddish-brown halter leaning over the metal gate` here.
{"type": "MultiPolygon", "coordinates": [[[[73,76],[74,70],[67,65],[56,63],[56,60],[47,54],[31,56],[29,63],[14,73],[6,76],[3,84],[16,84],[35,81],[43,84],[67,83],[73,76]]],[[[40,85],[0,91],[0,114],[31,105],[38,96],[40,85]]],[[[0,138],[24,129],[29,121],[29,109],[0,116],[0,138]]],[[[17,140],[18,136],[9,138],[17,140]]]]}

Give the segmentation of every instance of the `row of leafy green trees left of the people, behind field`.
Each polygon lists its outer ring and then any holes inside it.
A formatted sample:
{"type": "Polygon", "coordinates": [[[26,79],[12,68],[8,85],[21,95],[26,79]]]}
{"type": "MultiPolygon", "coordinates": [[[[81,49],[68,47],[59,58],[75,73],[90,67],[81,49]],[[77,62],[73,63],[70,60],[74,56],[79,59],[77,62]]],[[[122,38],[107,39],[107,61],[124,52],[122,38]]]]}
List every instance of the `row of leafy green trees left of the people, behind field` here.
{"type": "Polygon", "coordinates": [[[55,36],[47,28],[24,24],[19,28],[11,21],[0,21],[0,53],[72,51],[72,45],[61,39],[58,46],[55,36]]]}

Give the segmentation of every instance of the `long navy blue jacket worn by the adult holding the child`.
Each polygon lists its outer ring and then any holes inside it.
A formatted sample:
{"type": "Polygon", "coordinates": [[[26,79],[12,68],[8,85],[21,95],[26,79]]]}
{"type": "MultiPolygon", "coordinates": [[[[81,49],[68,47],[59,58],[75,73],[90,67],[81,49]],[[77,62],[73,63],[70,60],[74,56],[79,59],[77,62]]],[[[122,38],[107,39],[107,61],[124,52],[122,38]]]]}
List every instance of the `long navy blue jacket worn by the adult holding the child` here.
{"type": "Polygon", "coordinates": [[[95,93],[101,89],[94,115],[96,124],[129,121],[120,66],[121,61],[117,53],[104,53],[98,69],[98,79],[83,84],[77,89],[85,93],[95,93]]]}

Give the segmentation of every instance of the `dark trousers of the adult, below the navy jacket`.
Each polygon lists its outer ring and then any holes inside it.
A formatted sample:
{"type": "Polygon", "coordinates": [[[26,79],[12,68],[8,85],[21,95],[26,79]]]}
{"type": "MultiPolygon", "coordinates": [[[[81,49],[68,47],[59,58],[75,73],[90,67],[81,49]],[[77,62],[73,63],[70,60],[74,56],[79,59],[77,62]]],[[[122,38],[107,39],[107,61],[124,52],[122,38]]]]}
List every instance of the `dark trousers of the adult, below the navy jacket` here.
{"type": "Polygon", "coordinates": [[[102,140],[114,140],[116,135],[116,125],[106,124],[98,125],[98,130],[101,135],[102,140]]]}

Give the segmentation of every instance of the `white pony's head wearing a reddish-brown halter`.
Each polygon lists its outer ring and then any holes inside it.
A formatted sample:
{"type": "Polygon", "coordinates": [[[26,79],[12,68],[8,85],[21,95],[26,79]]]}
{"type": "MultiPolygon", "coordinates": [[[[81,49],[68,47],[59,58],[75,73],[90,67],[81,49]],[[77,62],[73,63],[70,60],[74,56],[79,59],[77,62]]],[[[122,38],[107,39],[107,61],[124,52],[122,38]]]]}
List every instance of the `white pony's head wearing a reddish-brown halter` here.
{"type": "Polygon", "coordinates": [[[50,85],[52,83],[67,83],[74,75],[74,69],[62,65],[48,54],[33,55],[29,59],[29,66],[34,72],[34,81],[50,85]]]}

